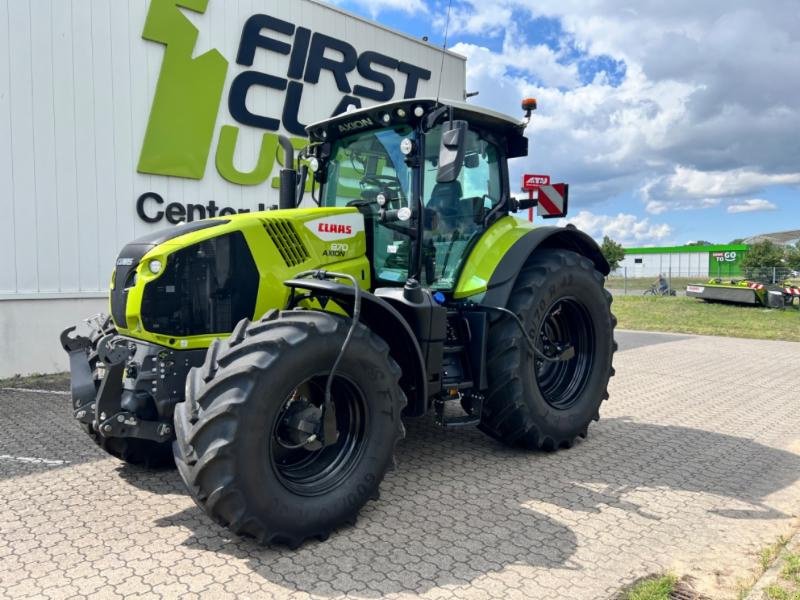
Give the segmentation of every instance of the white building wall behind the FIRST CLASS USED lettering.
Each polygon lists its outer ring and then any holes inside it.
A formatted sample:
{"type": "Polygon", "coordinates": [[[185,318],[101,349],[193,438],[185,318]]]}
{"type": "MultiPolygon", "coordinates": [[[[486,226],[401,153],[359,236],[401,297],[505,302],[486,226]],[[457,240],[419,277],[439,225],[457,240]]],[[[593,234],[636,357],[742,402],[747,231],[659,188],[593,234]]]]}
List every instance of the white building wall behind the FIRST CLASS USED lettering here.
{"type": "MultiPolygon", "coordinates": [[[[213,199],[237,209],[277,203],[269,180],[235,185],[214,164],[222,126],[239,128],[234,162],[241,171],[255,165],[264,134],[228,112],[233,78],[244,70],[286,75],[289,57],[262,49],[252,67],[236,64],[251,15],[269,14],[345,40],[359,54],[373,50],[424,67],[432,75],[420,82],[418,97],[435,96],[439,88],[439,49],[338,8],[317,0],[210,0],[204,14],[182,11],[199,29],[194,55],[217,49],[229,63],[205,176],[197,181],[138,173],[165,49],[142,38],[149,6],[149,0],[0,0],[0,31],[7,32],[0,42],[0,329],[6,334],[0,377],[66,367],[58,332],[81,316],[78,308],[98,304],[97,293],[106,290],[125,243],[169,226],[137,217],[141,194],[182,204],[213,199]],[[17,325],[29,316],[38,319],[37,343],[30,348],[30,330],[17,325]]],[[[394,99],[401,98],[405,75],[376,70],[395,80],[394,99]]],[[[375,87],[356,71],[348,81],[375,87]]],[[[305,124],[330,116],[343,96],[327,71],[318,84],[304,86],[299,119],[305,124]]],[[[461,100],[464,86],[464,59],[445,54],[442,97],[461,100]]],[[[280,117],[282,94],[254,88],[247,106],[280,117]]]]}

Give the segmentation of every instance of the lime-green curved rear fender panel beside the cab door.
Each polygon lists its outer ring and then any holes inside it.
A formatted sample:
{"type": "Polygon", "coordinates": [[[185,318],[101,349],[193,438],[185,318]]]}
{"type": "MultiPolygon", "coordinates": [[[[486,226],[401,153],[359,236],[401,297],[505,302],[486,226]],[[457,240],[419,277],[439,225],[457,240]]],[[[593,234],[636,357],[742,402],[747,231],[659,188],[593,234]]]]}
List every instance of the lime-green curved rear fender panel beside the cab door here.
{"type": "Polygon", "coordinates": [[[511,246],[533,229],[533,224],[528,221],[511,216],[493,223],[472,248],[453,291],[453,298],[459,300],[485,292],[489,279],[511,246]]]}

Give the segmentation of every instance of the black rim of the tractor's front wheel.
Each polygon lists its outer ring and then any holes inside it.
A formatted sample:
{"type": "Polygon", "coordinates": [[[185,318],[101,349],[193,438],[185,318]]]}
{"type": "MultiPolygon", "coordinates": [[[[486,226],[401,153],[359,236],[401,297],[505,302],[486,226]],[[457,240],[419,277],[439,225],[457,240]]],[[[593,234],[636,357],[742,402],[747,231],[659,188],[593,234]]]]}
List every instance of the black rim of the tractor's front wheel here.
{"type": "Polygon", "coordinates": [[[303,444],[312,434],[309,417],[313,421],[321,416],[327,378],[327,374],[311,377],[292,390],[283,401],[270,436],[269,459],[278,479],[287,489],[303,496],[326,494],[341,485],[361,458],[366,440],[364,396],[352,381],[336,376],[331,401],[336,409],[339,437],[326,447],[313,441],[303,444]],[[297,425],[304,419],[301,431],[297,425]]]}

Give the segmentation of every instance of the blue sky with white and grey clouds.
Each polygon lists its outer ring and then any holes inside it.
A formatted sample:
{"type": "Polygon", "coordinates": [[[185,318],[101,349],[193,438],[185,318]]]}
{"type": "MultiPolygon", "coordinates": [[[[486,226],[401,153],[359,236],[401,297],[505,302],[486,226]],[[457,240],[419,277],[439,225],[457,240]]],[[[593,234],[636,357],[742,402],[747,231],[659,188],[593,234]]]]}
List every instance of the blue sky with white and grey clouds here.
{"type": "MultiPolygon", "coordinates": [[[[445,0],[335,3],[443,42],[445,0]]],[[[447,45],[473,102],[539,99],[514,181],[570,183],[571,220],[598,238],[725,243],[800,229],[800,12],[764,6],[453,0],[447,45]]]]}

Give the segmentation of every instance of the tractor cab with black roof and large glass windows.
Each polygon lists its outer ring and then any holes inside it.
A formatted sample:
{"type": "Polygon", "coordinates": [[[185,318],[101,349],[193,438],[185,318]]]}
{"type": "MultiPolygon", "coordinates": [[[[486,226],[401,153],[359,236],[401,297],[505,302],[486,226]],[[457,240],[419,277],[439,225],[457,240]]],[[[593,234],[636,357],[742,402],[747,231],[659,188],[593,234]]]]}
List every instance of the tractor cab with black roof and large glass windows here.
{"type": "Polygon", "coordinates": [[[463,103],[403,100],[308,128],[314,200],[357,207],[376,286],[413,277],[451,291],[481,234],[509,209],[507,160],[524,121],[463,103]]]}

